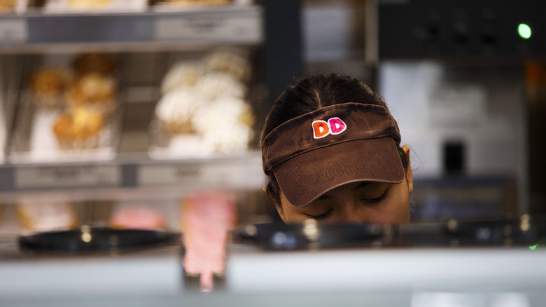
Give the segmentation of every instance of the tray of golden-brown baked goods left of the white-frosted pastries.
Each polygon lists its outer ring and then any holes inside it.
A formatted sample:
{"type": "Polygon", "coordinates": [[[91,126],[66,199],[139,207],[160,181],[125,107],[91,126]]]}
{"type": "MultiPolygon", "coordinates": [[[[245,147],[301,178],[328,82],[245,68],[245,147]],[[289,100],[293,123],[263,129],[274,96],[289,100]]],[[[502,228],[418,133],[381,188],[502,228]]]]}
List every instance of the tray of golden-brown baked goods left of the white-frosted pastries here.
{"type": "Polygon", "coordinates": [[[83,70],[87,69],[86,63],[97,60],[88,55],[53,53],[22,59],[22,82],[18,88],[20,96],[10,135],[8,162],[92,163],[115,158],[124,106],[123,95],[118,90],[123,87],[119,76],[122,62],[116,57],[100,57],[102,67],[110,67],[107,64],[113,67],[113,71],[106,73],[105,70],[102,75],[83,70]],[[77,64],[80,64],[79,70],[77,64]],[[78,74],[81,76],[76,77],[78,74]],[[106,84],[109,87],[105,88],[106,84]],[[101,90],[90,95],[88,88],[101,90]],[[97,101],[92,104],[94,100],[97,101]],[[80,105],[85,107],[76,107],[80,105]],[[62,120],[64,116],[66,120],[62,120]],[[90,117],[97,121],[87,119],[90,117]],[[96,128],[83,132],[89,125],[96,128]]]}

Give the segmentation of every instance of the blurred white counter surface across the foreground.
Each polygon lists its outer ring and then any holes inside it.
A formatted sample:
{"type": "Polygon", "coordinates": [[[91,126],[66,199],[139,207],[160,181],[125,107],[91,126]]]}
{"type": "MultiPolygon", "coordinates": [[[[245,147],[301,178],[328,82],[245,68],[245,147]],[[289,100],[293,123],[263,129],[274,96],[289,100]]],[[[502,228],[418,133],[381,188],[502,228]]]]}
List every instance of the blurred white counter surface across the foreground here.
{"type": "Polygon", "coordinates": [[[221,285],[203,294],[185,287],[177,246],[35,257],[2,239],[3,306],[529,307],[546,299],[545,251],[523,247],[266,252],[229,245],[221,285]]]}

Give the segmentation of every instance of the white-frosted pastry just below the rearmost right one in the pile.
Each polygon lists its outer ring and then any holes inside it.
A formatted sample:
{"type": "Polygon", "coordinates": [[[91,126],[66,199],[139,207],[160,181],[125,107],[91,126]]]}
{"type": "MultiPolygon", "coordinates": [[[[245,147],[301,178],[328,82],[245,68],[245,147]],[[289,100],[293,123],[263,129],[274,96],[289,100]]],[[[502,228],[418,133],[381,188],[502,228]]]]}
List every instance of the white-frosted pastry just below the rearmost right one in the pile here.
{"type": "Polygon", "coordinates": [[[236,97],[242,99],[246,96],[246,86],[234,79],[229,74],[213,72],[204,75],[195,84],[195,90],[199,95],[215,100],[219,97],[236,97]]]}

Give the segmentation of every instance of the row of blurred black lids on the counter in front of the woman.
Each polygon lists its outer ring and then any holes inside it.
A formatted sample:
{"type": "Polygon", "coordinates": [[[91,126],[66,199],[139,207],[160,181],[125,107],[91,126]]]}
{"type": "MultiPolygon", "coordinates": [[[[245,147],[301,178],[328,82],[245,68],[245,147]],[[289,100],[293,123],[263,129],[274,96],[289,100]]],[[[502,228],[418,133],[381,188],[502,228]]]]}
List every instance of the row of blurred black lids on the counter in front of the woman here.
{"type": "Polygon", "coordinates": [[[241,228],[243,243],[264,250],[335,250],[339,248],[529,247],[546,243],[546,219],[468,219],[409,225],[255,224],[241,228]]]}

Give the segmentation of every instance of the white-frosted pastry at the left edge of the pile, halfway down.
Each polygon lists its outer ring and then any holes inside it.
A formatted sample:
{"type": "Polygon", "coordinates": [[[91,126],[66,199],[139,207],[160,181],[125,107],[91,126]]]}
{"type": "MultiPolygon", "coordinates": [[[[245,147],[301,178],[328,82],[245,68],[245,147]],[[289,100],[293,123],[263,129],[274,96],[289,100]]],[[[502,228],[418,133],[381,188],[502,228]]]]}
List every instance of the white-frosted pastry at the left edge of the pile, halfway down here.
{"type": "Polygon", "coordinates": [[[155,107],[155,116],[168,132],[191,133],[191,118],[200,101],[188,88],[178,88],[163,95],[155,107]]]}

